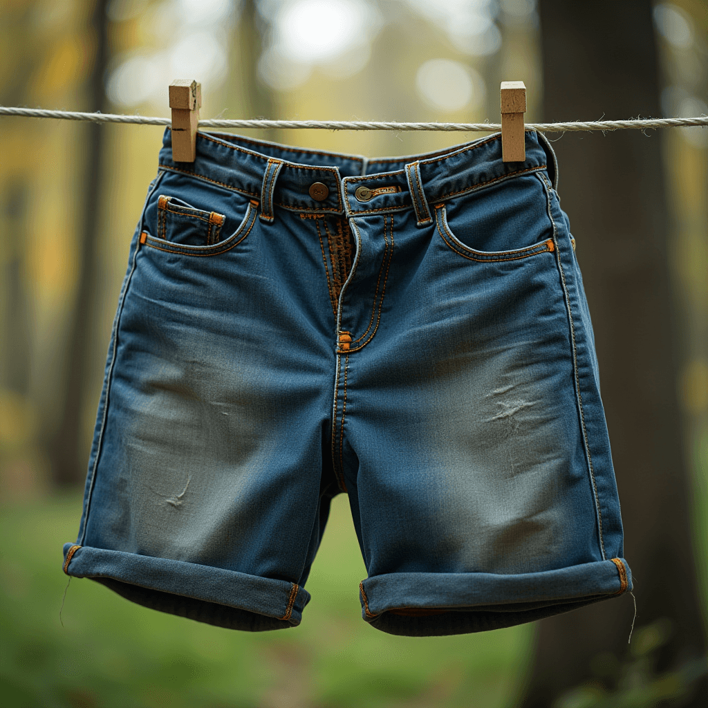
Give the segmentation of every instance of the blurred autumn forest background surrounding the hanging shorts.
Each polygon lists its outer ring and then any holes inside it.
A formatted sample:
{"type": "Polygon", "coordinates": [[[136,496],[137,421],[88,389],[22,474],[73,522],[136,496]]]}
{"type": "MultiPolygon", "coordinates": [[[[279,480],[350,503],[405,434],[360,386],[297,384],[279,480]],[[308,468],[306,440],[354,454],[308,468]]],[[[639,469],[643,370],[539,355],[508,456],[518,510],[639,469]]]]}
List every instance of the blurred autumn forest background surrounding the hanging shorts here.
{"type": "MultiPolygon", "coordinates": [[[[0,105],[202,118],[527,122],[708,113],[701,0],[0,0],[0,105]]],[[[593,312],[635,576],[537,624],[406,639],[360,619],[344,496],[292,632],[132,605],[61,572],[110,327],[162,130],[0,118],[0,686],[8,706],[708,703],[708,130],[553,135],[593,312]]],[[[479,134],[271,130],[383,156],[479,134]]]]}

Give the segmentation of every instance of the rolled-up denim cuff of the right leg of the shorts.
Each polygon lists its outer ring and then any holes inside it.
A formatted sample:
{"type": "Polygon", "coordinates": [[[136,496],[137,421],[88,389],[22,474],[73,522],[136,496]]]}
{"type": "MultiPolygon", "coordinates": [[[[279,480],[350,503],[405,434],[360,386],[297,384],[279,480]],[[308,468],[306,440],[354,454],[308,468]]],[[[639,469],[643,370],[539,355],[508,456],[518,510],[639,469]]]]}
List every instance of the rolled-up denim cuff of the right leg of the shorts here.
{"type": "Polygon", "coordinates": [[[360,585],[362,617],[388,634],[484,632],[576,610],[632,590],[624,559],[555,571],[389,573],[360,585]]]}

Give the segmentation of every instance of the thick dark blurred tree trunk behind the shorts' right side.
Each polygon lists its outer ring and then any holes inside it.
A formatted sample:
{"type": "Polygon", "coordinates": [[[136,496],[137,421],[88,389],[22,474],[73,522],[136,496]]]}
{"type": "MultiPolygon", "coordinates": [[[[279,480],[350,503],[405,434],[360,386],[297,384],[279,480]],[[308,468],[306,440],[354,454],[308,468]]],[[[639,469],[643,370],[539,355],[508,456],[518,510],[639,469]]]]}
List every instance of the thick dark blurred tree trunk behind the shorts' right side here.
{"type": "MultiPolygon", "coordinates": [[[[544,120],[661,115],[650,0],[540,0],[539,9],[544,120]]],[[[605,696],[583,705],[629,705],[611,694],[627,690],[628,668],[632,673],[644,651],[638,643],[653,633],[645,680],[673,671],[674,690],[647,689],[646,702],[632,705],[704,707],[708,687],[697,659],[706,641],[676,399],[680,338],[668,275],[661,137],[571,133],[554,147],[595,323],[638,631],[628,650],[628,596],[544,619],[523,705],[570,705],[569,690],[583,685],[605,696]]]]}

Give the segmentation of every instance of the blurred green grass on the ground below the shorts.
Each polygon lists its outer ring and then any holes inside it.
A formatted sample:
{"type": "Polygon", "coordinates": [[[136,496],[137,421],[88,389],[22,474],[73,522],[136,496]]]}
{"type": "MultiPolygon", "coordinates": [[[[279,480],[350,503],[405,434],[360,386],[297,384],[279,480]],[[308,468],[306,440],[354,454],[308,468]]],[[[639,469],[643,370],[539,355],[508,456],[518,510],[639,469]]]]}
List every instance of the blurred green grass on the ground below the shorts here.
{"type": "Polygon", "coordinates": [[[346,496],[330,523],[299,627],[249,634],[164,615],[98,583],[67,583],[62,544],[80,496],[0,510],[2,705],[210,708],[496,708],[523,680],[532,627],[407,638],[362,621],[364,566],[346,496]]]}

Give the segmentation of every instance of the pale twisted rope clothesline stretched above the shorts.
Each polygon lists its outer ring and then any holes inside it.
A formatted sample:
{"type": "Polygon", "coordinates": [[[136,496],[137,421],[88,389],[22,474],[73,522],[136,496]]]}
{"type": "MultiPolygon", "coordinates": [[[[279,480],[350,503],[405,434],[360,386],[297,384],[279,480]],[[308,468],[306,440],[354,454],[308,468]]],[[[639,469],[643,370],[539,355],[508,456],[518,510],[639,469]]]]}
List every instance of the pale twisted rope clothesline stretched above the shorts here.
{"type": "MultiPolygon", "coordinates": [[[[170,118],[117,113],[79,113],[69,110],[42,108],[13,108],[0,105],[0,115],[21,115],[25,118],[59,118],[61,120],[88,120],[98,123],[133,123],[137,125],[171,125],[170,118]]],[[[593,120],[562,123],[526,123],[525,130],[565,132],[566,130],[646,130],[648,128],[690,127],[708,125],[708,116],[696,118],[637,118],[636,120],[593,120]]],[[[365,120],[200,120],[200,128],[315,128],[319,130],[447,130],[495,132],[501,123],[440,123],[397,122],[365,120]]]]}

